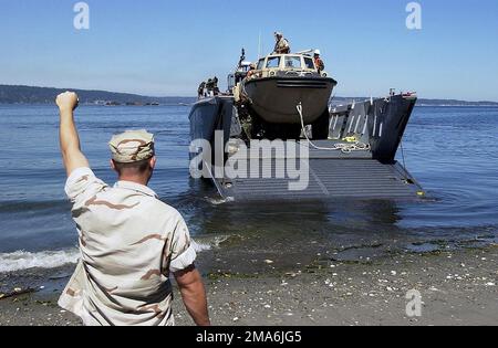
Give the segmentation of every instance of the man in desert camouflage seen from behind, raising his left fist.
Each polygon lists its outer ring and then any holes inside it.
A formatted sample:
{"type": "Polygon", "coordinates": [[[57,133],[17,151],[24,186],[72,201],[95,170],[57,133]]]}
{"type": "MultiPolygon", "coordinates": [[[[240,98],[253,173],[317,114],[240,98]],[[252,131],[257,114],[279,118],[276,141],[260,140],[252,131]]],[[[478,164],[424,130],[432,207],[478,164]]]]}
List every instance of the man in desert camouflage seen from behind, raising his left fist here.
{"type": "Polygon", "coordinates": [[[210,324],[206,292],[187,225],[147,187],[156,158],[145,130],[114,136],[112,167],[120,181],[97,179],[80,149],[74,93],[58,96],[65,191],[80,236],[81,261],[59,305],[90,326],[172,326],[175,276],[197,325],[210,324]]]}

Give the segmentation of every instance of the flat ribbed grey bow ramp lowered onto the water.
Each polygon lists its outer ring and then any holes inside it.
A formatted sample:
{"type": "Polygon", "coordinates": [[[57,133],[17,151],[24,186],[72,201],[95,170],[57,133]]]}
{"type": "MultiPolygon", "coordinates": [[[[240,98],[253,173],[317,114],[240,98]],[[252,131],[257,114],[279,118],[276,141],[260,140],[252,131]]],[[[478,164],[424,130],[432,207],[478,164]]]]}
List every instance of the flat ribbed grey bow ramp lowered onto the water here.
{"type": "MultiPolygon", "coordinates": [[[[329,143],[330,141],[324,141],[329,143]]],[[[323,145],[323,144],[322,144],[323,145]]],[[[247,167],[253,160],[248,156],[247,167]]],[[[259,169],[271,169],[271,178],[245,178],[215,180],[225,199],[236,201],[262,200],[328,200],[328,199],[391,199],[417,200],[424,193],[422,187],[398,162],[384,165],[372,159],[371,151],[341,151],[310,149],[309,160],[300,158],[259,159],[259,169]],[[290,178],[286,168],[290,165],[298,172],[308,172],[303,190],[290,190],[290,178]],[[307,168],[309,170],[307,170],[307,168]],[[284,173],[279,176],[278,173],[284,173]]],[[[304,178],[305,179],[305,178],[304,178]]]]}

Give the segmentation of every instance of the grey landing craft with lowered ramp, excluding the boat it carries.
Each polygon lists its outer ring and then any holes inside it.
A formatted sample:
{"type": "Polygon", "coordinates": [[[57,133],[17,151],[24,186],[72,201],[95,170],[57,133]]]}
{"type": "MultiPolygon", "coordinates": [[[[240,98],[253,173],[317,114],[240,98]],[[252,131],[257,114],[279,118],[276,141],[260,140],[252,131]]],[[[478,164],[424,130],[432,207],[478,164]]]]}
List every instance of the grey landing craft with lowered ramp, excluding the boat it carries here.
{"type": "MultiPolygon", "coordinates": [[[[305,148],[304,151],[282,155],[282,151],[267,150],[261,156],[247,148],[234,98],[217,97],[200,101],[193,107],[191,137],[214,143],[214,134],[221,131],[224,144],[230,148],[228,162],[237,156],[237,168],[250,173],[237,177],[221,173],[211,180],[226,199],[419,200],[425,198],[423,188],[395,159],[416,101],[416,95],[405,94],[332,105],[328,123],[320,123],[319,128],[323,134],[325,127],[326,139],[313,139],[307,133],[309,126],[303,125],[297,148],[305,148]]],[[[307,109],[298,105],[295,118],[304,123],[305,113],[307,109]]],[[[204,167],[211,173],[219,172],[219,168],[207,164],[204,167]]]]}

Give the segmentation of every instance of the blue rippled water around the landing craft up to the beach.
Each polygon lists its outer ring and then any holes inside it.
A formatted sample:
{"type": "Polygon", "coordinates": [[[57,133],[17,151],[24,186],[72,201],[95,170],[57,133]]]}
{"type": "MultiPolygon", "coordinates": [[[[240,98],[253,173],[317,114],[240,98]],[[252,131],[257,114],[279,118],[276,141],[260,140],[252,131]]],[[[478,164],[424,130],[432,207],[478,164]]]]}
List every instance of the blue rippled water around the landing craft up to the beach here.
{"type": "MultiPolygon", "coordinates": [[[[404,140],[408,170],[435,198],[391,201],[238,204],[189,179],[188,107],[82,106],[83,151],[98,177],[108,169],[112,134],[146,128],[156,135],[158,168],[151,183],[187,220],[199,247],[242,262],[268,255],[374,255],[494,243],[498,236],[498,108],[418,107],[404,140]]],[[[52,106],[0,105],[0,272],[58,266],[77,257],[65,200],[52,106]]],[[[401,157],[400,157],[401,159],[401,157]]]]}

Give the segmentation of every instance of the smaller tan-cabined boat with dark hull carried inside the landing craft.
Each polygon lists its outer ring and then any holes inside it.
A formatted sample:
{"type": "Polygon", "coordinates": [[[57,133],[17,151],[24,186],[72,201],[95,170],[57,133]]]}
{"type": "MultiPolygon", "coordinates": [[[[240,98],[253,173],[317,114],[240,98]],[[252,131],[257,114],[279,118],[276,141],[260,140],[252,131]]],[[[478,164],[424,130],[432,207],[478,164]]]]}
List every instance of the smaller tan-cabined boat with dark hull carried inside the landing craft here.
{"type": "Polygon", "coordinates": [[[302,129],[295,105],[302,104],[304,125],[315,129],[313,138],[326,139],[329,101],[336,84],[318,71],[311,55],[297,53],[262,57],[250,73],[239,64],[229,88],[241,122],[250,118],[248,138],[299,139],[302,129]]]}

